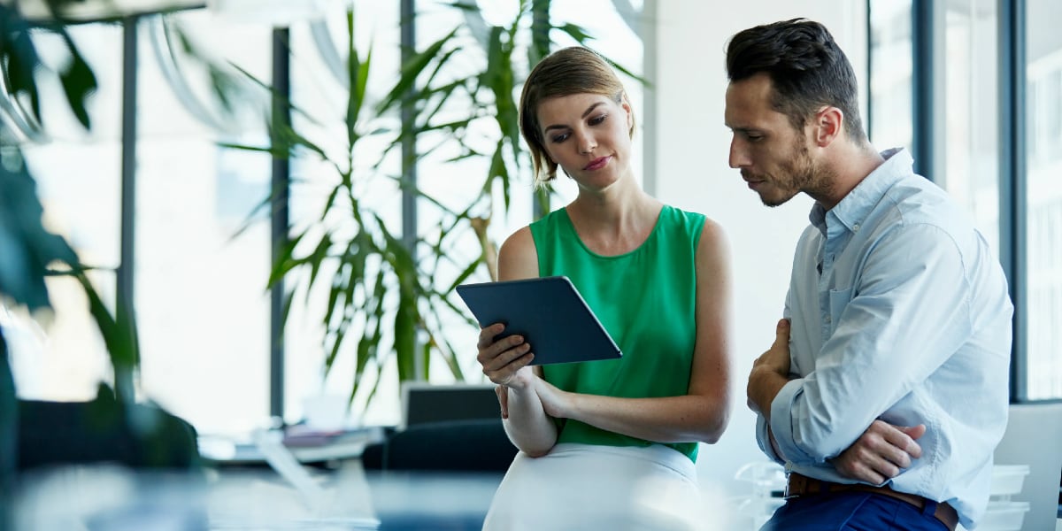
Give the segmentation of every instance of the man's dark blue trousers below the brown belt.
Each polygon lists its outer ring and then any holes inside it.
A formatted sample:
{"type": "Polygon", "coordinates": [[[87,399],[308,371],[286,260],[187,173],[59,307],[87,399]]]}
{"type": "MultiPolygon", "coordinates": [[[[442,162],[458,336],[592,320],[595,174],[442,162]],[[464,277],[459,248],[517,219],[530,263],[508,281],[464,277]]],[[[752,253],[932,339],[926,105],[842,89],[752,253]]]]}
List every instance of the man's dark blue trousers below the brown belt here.
{"type": "Polygon", "coordinates": [[[780,507],[759,531],[946,531],[936,510],[932,501],[920,510],[872,493],[801,496],[780,507]]]}

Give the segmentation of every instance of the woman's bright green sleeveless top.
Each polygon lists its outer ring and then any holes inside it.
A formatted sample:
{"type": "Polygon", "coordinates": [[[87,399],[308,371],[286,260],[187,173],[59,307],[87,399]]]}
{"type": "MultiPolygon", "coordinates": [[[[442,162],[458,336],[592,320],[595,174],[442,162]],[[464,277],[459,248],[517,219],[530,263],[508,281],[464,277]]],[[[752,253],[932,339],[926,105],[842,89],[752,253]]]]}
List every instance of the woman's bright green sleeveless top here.
{"type": "MultiPolygon", "coordinates": [[[[564,275],[594,309],[623,356],[616,360],[543,365],[564,391],[623,398],[679,396],[689,389],[697,339],[697,243],[704,216],[665,206],[638,249],[601,256],[583,245],[566,209],[531,223],[538,275],[564,275]]],[[[567,419],[558,443],[648,446],[567,419]]],[[[697,443],[667,444],[697,461],[697,443]]]]}

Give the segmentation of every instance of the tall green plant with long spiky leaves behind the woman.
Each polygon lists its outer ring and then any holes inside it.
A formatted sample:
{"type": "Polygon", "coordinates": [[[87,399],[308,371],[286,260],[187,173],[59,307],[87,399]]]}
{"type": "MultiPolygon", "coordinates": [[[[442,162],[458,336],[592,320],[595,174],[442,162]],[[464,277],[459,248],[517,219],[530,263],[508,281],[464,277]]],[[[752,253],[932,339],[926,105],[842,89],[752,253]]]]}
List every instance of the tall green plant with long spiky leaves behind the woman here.
{"type": "MultiPolygon", "coordinates": [[[[366,87],[383,67],[374,63],[371,49],[355,45],[355,14],[349,11],[343,50],[348,98],[344,108],[333,113],[341,119],[332,120],[338,123],[326,130],[330,134],[313,136],[282,120],[270,120],[271,145],[226,144],[292,160],[323,161],[330,168],[330,175],[315,177],[314,183],[327,183],[326,199],[312,220],[291,227],[290,241],[274,261],[270,284],[294,280],[285,305],[286,321],[293,304],[312,305],[311,294],[319,293],[316,299],[324,302],[318,308],[318,324],[325,376],[340,366],[339,360],[353,357],[350,404],[357,400],[367,407],[390,363],[397,369],[399,381],[426,379],[433,362],[442,362],[456,380],[466,379],[462,361],[470,357],[455,348],[452,324],[466,323],[469,328],[457,332],[464,336],[474,335],[476,324],[452,293],[470,278],[496,278],[495,245],[489,235],[492,219],[507,213],[515,179],[527,179],[530,188],[526,171],[530,165],[520,144],[515,101],[520,81],[548,53],[551,31],[564,32],[579,42],[589,38],[578,25],[551,23],[549,4],[548,0],[520,1],[510,23],[490,25],[475,4],[455,3],[465,23],[409,53],[399,75],[375,99],[366,87]],[[527,53],[527,61],[519,53],[527,53]],[[463,70],[451,69],[455,64],[464,65],[463,70]],[[469,72],[468,64],[480,67],[469,72]],[[402,109],[406,119],[395,126],[402,109]],[[337,134],[345,141],[329,150],[325,144],[337,134]],[[370,155],[375,158],[366,162],[361,145],[381,139],[387,148],[370,155]],[[479,177],[478,193],[453,208],[411,184],[400,171],[389,173],[388,155],[404,142],[417,140],[433,147],[417,157],[431,156],[445,144],[456,155],[443,164],[481,160],[485,172],[479,177]],[[440,220],[438,228],[404,233],[389,222],[387,204],[366,194],[381,182],[394,193],[401,190],[416,196],[421,208],[430,209],[440,220]],[[456,251],[468,249],[469,242],[478,247],[477,253],[456,251]]],[[[268,87],[260,80],[255,82],[268,87]]],[[[297,103],[286,99],[281,103],[282,113],[306,115],[305,122],[327,121],[308,116],[297,103]]],[[[405,167],[415,160],[407,158],[405,167]]],[[[296,175],[294,186],[301,181],[296,175]]],[[[536,193],[537,204],[546,208],[548,191],[536,193]]]]}

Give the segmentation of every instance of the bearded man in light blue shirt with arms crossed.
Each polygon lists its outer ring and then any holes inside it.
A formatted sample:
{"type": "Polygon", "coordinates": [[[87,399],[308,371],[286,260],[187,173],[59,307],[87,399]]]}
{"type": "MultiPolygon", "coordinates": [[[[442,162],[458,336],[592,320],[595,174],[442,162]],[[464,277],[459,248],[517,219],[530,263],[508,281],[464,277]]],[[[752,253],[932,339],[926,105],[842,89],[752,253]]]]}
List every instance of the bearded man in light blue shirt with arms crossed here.
{"type": "Polygon", "coordinates": [[[998,261],[906,151],[870,144],[822,24],[742,31],[726,68],[731,167],[768,206],[816,201],[786,319],[749,376],[759,445],[788,473],[764,529],[973,528],[1007,424],[998,261]]]}

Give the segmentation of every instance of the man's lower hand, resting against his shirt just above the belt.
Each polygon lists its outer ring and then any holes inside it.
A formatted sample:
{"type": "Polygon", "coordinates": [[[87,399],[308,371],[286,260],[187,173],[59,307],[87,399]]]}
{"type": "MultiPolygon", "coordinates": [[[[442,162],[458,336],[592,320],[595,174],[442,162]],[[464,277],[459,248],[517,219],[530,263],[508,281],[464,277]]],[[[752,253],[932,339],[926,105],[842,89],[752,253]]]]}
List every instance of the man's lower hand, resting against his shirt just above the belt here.
{"type": "Polygon", "coordinates": [[[883,484],[910,467],[912,459],[922,457],[922,447],[914,441],[925,432],[923,424],[907,427],[874,421],[852,446],[833,459],[834,466],[846,478],[883,484]]]}

